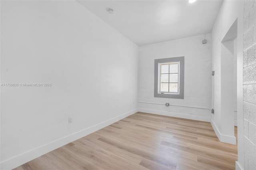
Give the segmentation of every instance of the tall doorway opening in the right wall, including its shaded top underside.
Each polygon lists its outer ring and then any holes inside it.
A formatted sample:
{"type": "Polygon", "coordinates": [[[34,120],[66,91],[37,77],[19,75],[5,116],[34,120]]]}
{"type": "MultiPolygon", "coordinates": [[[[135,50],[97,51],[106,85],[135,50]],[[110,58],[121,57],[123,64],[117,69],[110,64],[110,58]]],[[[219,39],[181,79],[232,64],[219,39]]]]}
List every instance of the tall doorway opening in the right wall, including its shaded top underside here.
{"type": "Polygon", "coordinates": [[[237,126],[237,20],[221,42],[221,132],[236,144],[237,126]]]}

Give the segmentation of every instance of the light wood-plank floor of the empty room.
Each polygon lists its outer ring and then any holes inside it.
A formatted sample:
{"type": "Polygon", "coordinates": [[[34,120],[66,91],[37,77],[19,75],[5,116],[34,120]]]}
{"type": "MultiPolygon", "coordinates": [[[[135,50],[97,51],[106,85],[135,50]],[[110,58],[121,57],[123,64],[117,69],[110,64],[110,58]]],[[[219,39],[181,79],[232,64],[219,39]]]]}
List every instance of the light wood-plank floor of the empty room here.
{"type": "Polygon", "coordinates": [[[138,112],[15,170],[215,170],[236,160],[210,123],[138,112]]]}

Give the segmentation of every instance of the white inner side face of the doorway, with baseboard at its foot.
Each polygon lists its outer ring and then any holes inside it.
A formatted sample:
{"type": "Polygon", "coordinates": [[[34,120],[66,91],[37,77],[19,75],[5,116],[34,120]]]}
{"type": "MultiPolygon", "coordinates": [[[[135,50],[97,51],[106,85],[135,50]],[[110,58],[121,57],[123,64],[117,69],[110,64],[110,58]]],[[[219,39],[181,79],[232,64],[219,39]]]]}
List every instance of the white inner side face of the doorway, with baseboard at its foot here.
{"type": "MultiPolygon", "coordinates": [[[[221,43],[221,122],[217,136],[221,142],[236,144],[234,133],[234,41],[221,43]]],[[[216,129],[214,129],[216,130],[216,129]]]]}

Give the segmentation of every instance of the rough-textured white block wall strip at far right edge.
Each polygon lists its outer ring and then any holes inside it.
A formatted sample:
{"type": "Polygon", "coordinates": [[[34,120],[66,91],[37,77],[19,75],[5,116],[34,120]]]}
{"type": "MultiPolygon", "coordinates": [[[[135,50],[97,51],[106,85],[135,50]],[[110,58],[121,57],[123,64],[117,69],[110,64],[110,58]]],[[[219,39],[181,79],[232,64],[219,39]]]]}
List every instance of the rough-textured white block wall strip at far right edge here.
{"type": "Polygon", "coordinates": [[[256,0],[244,1],[244,168],[256,170],[256,0]]]}

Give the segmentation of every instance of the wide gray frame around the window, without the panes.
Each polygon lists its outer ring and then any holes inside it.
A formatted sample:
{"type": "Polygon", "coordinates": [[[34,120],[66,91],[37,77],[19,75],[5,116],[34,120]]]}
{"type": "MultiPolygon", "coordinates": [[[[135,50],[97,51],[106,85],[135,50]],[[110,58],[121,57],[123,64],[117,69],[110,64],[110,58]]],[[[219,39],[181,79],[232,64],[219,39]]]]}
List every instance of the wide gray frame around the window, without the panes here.
{"type": "Polygon", "coordinates": [[[154,97],[184,99],[184,56],[155,59],[154,73],[154,97]],[[162,63],[179,62],[179,90],[178,93],[159,93],[160,67],[162,63]]]}

